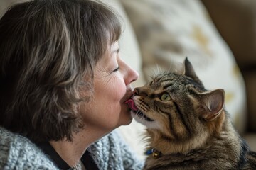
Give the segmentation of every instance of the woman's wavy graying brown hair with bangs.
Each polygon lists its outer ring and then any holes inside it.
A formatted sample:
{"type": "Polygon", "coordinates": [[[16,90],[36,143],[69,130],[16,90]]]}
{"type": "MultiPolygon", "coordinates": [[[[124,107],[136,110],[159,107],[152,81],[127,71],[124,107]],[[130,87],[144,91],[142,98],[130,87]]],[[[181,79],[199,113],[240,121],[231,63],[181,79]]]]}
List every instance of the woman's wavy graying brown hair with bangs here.
{"type": "Polygon", "coordinates": [[[72,141],[93,70],[121,34],[117,13],[89,0],[35,0],[0,20],[0,125],[33,141],[72,141]],[[85,96],[80,96],[83,91],[85,96]]]}

